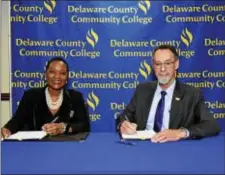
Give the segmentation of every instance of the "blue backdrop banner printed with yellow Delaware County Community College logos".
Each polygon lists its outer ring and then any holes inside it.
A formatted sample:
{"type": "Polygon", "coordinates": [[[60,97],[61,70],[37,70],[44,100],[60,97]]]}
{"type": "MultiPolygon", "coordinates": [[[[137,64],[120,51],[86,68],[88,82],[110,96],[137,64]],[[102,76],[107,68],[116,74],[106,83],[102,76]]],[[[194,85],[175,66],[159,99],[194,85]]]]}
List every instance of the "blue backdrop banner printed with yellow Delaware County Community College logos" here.
{"type": "Polygon", "coordinates": [[[47,60],[60,56],[92,131],[115,131],[136,86],[155,79],[151,56],[161,44],[177,48],[177,78],[201,88],[224,130],[224,1],[11,1],[12,112],[25,90],[45,85],[47,60]]]}

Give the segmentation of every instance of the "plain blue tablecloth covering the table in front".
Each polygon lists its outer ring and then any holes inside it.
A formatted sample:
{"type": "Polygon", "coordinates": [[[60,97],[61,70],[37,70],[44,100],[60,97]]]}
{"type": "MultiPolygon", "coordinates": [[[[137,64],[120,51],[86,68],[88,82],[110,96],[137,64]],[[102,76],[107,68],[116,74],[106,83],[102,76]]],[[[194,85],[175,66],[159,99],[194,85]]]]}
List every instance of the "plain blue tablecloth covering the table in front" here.
{"type": "Polygon", "coordinates": [[[202,140],[118,144],[116,133],[84,142],[2,142],[2,174],[224,174],[224,133],[202,140]]]}

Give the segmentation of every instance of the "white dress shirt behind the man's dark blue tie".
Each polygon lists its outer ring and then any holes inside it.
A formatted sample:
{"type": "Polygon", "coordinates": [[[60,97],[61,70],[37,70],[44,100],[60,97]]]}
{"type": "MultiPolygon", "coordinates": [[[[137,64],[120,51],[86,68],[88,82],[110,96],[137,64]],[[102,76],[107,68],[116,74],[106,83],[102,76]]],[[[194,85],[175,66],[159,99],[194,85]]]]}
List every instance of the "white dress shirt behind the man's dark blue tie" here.
{"type": "MultiPolygon", "coordinates": [[[[163,112],[163,121],[162,121],[161,131],[169,128],[170,109],[171,109],[171,103],[172,103],[172,98],[173,98],[173,92],[175,89],[175,84],[176,84],[176,80],[173,81],[173,83],[170,85],[169,88],[164,90],[164,91],[166,91],[166,95],[165,95],[165,107],[164,107],[164,112],[163,112]]],[[[161,99],[161,91],[163,91],[163,89],[158,84],[155,94],[154,94],[154,97],[153,97],[152,105],[151,105],[151,108],[149,111],[146,130],[153,130],[156,109],[157,109],[158,103],[161,99]]]]}

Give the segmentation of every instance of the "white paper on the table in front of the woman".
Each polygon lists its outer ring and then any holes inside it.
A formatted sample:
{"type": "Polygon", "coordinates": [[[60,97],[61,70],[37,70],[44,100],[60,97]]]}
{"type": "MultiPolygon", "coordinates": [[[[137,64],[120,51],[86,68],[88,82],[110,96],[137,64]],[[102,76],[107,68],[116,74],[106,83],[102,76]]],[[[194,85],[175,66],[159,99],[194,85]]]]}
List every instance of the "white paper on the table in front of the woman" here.
{"type": "Polygon", "coordinates": [[[42,139],[47,135],[45,131],[19,131],[7,139],[12,140],[28,140],[28,139],[42,139]]]}

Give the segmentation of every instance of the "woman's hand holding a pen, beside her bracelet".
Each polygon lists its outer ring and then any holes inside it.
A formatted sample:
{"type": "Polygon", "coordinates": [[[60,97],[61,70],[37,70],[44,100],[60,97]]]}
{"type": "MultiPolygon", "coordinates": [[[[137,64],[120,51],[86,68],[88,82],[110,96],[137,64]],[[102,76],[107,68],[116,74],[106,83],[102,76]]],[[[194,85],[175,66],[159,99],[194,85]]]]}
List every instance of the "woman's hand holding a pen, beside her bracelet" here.
{"type": "Polygon", "coordinates": [[[63,126],[61,123],[46,123],[42,129],[49,135],[58,135],[62,133],[63,126]]]}

